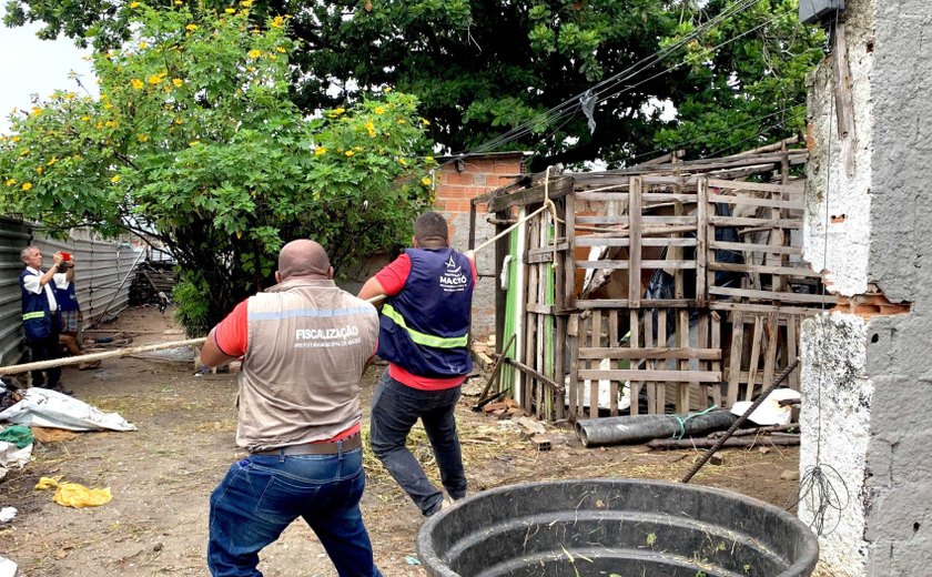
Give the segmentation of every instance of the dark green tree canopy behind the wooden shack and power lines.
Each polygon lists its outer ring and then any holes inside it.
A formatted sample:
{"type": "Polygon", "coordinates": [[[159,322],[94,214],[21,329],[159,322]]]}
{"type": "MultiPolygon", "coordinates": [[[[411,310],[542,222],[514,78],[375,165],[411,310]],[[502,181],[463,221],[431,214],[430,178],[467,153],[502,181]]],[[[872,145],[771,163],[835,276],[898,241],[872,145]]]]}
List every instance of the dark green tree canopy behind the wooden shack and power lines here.
{"type": "MultiPolygon", "coordinates": [[[[533,150],[537,166],[596,159],[616,166],[682,143],[691,158],[730,153],[801,126],[803,79],[821,58],[823,36],[799,24],[798,0],[760,0],[661,64],[624,73],[738,3],[262,0],[251,23],[293,14],[290,36],[302,50],[292,60],[297,71],[290,94],[304,111],[346,107],[388,85],[417,95],[432,121],[428,135],[445,151],[476,150],[527,124],[494,150],[533,150]],[[553,113],[617,74],[596,91],[594,134],[578,108],[553,113]],[[678,117],[661,119],[658,103],[669,103],[678,117]]],[[[8,4],[8,23],[43,21],[47,36],[64,32],[99,47],[130,30],[110,0],[8,4]]]]}

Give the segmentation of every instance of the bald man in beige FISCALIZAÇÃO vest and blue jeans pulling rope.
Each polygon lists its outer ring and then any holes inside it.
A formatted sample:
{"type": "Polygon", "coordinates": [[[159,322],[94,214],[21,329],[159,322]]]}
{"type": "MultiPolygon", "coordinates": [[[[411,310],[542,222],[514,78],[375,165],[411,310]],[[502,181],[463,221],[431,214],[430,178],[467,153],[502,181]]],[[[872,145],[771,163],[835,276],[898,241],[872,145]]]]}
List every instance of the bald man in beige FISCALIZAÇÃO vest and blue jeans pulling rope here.
{"type": "Polygon", "coordinates": [[[236,443],[250,452],[211,495],[215,577],[260,576],[259,551],[297,517],[341,577],[381,576],[359,512],[359,379],[375,354],[378,315],[332,279],[320,244],[290,242],[278,254],[278,284],[207,335],[204,364],[243,356],[236,443]]]}

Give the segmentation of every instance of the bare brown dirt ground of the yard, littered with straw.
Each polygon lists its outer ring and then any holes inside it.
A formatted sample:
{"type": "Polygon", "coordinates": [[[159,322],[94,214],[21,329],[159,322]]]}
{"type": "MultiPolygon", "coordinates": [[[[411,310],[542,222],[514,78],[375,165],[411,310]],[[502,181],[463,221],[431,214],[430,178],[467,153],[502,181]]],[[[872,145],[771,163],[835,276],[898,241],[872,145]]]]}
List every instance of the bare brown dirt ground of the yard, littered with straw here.
{"type": "MultiPolygon", "coordinates": [[[[169,314],[154,307],[124,311],[101,327],[104,336],[124,332],[132,344],[181,340],[169,314]]],[[[182,352],[183,353],[183,352],[182,352]]],[[[133,356],[104,361],[93,371],[65,368],[62,382],[74,396],[102,411],[119,412],[139,427],[132,433],[83,433],[77,439],[37,443],[33,462],[11,470],[0,484],[0,507],[19,514],[0,524],[0,555],[23,577],[204,576],[209,496],[229,466],[244,455],[234,444],[235,375],[194,376],[193,361],[182,355],[133,356]],[[52,492],[36,490],[43,476],[88,487],[110,487],[113,500],[84,509],[52,502],[52,492]]],[[[363,419],[381,367],[364,379],[363,419]]],[[[584,448],[569,428],[548,426],[553,449],[537,452],[510,421],[498,421],[469,406],[464,396],[457,419],[469,490],[556,478],[637,477],[675,480],[701,454],[698,451],[650,452],[640,446],[584,448]]],[[[423,435],[414,435],[418,457],[432,467],[423,435]]],[[[707,465],[693,483],[731,489],[787,506],[796,480],[796,447],[771,447],[766,454],[728,449],[725,462],[707,465]]],[[[419,577],[415,538],[423,518],[415,506],[366,454],[368,482],[363,514],[386,577],[419,577]]],[[[435,475],[436,482],[436,475],[435,475]]],[[[293,524],[262,553],[267,577],[336,575],[314,534],[293,524]]]]}

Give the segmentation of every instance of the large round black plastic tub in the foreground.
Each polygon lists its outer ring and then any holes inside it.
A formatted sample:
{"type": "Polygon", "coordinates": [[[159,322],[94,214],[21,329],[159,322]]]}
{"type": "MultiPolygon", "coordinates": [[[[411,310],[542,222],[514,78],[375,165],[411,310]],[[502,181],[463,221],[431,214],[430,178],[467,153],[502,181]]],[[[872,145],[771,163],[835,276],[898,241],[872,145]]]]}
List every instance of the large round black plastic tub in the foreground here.
{"type": "Polygon", "coordinates": [[[798,577],[816,535],[789,513],[695,485],[592,479],[478,493],[417,537],[433,577],[798,577]]]}

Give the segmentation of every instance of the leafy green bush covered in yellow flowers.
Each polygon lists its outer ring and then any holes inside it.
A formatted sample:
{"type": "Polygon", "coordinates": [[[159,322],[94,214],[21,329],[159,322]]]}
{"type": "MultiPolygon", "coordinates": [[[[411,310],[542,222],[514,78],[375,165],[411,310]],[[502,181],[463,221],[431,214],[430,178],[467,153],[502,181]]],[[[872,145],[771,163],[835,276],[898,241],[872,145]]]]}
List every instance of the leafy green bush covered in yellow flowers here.
{"type": "Polygon", "coordinates": [[[100,99],[55,93],[0,141],[0,209],[159,237],[192,334],[271,284],[292,239],[317,240],[337,269],[404,244],[435,165],[414,97],[306,118],[288,99],[290,19],[259,28],[240,4],[126,4],[132,40],[93,55],[100,99]]]}

